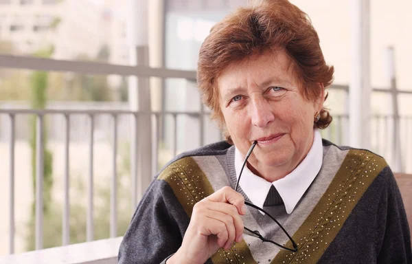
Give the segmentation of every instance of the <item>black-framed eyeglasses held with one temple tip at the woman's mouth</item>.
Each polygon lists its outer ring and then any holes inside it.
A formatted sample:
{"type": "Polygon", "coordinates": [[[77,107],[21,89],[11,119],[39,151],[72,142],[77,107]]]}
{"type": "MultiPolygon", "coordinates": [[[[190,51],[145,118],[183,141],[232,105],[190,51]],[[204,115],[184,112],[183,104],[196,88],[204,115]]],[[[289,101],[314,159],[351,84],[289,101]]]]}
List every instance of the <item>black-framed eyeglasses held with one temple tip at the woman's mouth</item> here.
{"type": "MultiPolygon", "coordinates": [[[[247,159],[249,159],[249,156],[251,155],[253,148],[255,148],[256,144],[258,144],[257,141],[253,142],[251,148],[249,148],[249,151],[247,152],[246,157],[244,158],[244,162],[242,165],[242,168],[240,169],[240,173],[239,173],[239,177],[238,177],[238,181],[236,182],[236,187],[235,190],[236,192],[238,191],[238,186],[239,186],[239,181],[240,181],[240,176],[242,176],[242,171],[244,166],[247,163],[247,159]]],[[[246,204],[247,206],[251,206],[257,210],[260,210],[260,212],[264,212],[265,215],[267,215],[268,217],[270,217],[273,221],[275,221],[275,223],[277,223],[277,225],[279,225],[280,228],[282,228],[283,232],[286,234],[286,236],[288,236],[288,238],[290,239],[290,242],[292,242],[293,245],[293,249],[292,248],[286,248],[284,245],[280,245],[279,243],[276,243],[275,241],[271,241],[270,239],[265,239],[258,230],[251,230],[247,227],[244,227],[245,230],[251,232],[251,234],[254,234],[256,237],[258,237],[260,240],[262,240],[262,242],[268,242],[268,243],[273,243],[275,245],[277,245],[279,248],[282,248],[284,250],[288,250],[291,252],[297,252],[297,244],[295,243],[295,241],[293,241],[292,237],[288,234],[288,232],[286,232],[286,230],[284,229],[284,227],[275,219],[275,217],[272,217],[271,214],[268,214],[268,212],[266,212],[265,210],[263,210],[262,208],[259,208],[258,206],[255,206],[253,203],[249,203],[249,201],[244,201],[244,204],[246,204]]]]}

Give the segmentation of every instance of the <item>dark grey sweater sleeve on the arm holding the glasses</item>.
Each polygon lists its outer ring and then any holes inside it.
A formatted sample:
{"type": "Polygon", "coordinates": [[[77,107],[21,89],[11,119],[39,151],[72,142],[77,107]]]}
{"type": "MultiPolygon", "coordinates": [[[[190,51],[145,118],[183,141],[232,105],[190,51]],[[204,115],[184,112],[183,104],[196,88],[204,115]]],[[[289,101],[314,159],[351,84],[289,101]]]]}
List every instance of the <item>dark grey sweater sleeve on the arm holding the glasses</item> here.
{"type": "Polygon", "coordinates": [[[165,263],[181,246],[189,221],[168,183],[155,179],[124,234],[118,263],[165,263]]]}

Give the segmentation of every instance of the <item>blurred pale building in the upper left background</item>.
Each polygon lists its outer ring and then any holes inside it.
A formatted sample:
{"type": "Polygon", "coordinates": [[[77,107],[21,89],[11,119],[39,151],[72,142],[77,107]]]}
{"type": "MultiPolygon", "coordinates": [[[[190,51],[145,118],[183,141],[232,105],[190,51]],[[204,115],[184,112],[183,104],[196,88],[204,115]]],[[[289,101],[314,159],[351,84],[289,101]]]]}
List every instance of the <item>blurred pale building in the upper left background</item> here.
{"type": "Polygon", "coordinates": [[[110,8],[89,0],[1,0],[0,40],[19,54],[52,46],[56,59],[95,58],[106,45],[109,61],[127,61],[124,23],[110,8]]]}

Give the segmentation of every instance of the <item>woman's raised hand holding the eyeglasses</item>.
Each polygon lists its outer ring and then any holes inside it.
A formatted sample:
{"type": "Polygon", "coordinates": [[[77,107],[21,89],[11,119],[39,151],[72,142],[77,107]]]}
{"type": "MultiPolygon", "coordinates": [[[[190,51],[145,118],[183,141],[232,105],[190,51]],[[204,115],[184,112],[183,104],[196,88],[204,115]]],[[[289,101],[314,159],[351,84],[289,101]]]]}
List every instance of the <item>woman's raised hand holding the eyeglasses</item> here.
{"type": "Polygon", "coordinates": [[[229,250],[243,239],[244,198],[229,186],[194,205],[181,248],[167,264],[205,263],[219,248],[229,250]]]}

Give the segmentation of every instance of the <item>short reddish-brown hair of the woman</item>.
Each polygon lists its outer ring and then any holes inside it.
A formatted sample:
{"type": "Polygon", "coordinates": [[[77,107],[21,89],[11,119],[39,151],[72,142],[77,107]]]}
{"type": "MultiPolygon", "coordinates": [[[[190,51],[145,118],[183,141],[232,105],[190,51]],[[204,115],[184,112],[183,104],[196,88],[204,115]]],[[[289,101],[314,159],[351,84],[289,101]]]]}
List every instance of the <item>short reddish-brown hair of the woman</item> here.
{"type": "MultiPolygon", "coordinates": [[[[307,100],[321,96],[319,83],[325,88],[332,83],[334,68],[326,65],[319,36],[305,12],[287,0],[266,0],[238,8],[211,28],[198,59],[198,87],[203,102],[212,111],[211,118],[221,129],[225,128],[225,120],[217,85],[220,74],[229,65],[275,47],[286,50],[307,100]]],[[[325,129],[332,116],[325,108],[320,114],[314,126],[325,129]]]]}

